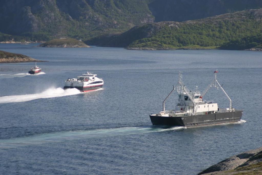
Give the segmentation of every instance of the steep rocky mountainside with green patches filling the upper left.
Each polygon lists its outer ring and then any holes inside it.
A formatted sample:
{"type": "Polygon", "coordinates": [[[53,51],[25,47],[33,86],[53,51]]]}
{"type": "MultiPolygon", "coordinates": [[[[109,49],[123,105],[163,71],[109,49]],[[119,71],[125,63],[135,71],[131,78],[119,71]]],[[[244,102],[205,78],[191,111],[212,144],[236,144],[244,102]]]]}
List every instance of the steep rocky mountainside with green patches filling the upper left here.
{"type": "Polygon", "coordinates": [[[1,0],[0,31],[38,40],[43,36],[83,39],[153,22],[147,3],[145,0],[1,0]]]}

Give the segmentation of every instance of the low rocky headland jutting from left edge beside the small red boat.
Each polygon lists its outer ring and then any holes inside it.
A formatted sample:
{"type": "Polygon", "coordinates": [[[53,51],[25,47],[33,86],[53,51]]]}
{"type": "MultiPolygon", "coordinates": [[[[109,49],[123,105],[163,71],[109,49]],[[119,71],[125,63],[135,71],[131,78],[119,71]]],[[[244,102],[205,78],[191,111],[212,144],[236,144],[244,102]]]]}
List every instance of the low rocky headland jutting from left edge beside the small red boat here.
{"type": "Polygon", "coordinates": [[[18,63],[18,62],[43,62],[22,54],[14,54],[0,50],[0,63],[18,63]]]}

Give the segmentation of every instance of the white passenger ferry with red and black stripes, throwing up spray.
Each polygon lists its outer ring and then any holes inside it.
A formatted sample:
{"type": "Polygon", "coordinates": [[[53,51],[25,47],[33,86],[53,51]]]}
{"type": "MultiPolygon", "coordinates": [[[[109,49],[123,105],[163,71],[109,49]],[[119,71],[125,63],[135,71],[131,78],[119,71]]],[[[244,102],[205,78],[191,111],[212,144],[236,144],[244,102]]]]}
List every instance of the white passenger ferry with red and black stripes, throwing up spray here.
{"type": "Polygon", "coordinates": [[[96,74],[87,72],[86,74],[78,76],[77,78],[68,78],[65,80],[64,89],[77,88],[81,92],[90,92],[100,89],[102,88],[104,81],[102,78],[97,78],[96,76],[96,74]]]}

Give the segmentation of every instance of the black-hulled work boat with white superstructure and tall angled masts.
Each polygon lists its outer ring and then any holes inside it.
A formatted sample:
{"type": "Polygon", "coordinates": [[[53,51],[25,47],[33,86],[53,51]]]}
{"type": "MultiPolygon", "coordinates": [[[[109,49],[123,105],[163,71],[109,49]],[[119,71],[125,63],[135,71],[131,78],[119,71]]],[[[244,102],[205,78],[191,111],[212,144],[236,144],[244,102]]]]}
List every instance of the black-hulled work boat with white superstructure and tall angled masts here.
{"type": "Polygon", "coordinates": [[[175,110],[165,110],[165,101],[163,101],[163,111],[159,114],[151,114],[150,119],[153,125],[170,125],[170,126],[200,126],[209,124],[220,124],[240,121],[243,110],[232,108],[231,99],[215,79],[208,85],[201,95],[196,86],[195,91],[189,91],[182,81],[182,74],[179,72],[179,81],[170,94],[176,90],[178,93],[178,103],[175,110]],[[230,101],[230,107],[226,109],[218,108],[217,103],[213,101],[203,101],[203,97],[210,87],[220,87],[230,101]]]}

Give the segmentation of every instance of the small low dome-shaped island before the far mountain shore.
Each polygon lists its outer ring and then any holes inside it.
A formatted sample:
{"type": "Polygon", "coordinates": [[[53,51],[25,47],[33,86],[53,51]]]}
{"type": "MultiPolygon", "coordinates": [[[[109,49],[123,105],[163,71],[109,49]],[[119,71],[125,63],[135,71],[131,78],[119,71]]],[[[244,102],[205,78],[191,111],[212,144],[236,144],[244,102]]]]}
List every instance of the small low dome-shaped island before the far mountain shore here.
{"type": "Polygon", "coordinates": [[[37,47],[90,47],[82,41],[76,39],[54,39],[47,41],[37,47]]]}

